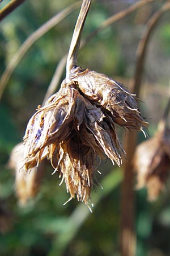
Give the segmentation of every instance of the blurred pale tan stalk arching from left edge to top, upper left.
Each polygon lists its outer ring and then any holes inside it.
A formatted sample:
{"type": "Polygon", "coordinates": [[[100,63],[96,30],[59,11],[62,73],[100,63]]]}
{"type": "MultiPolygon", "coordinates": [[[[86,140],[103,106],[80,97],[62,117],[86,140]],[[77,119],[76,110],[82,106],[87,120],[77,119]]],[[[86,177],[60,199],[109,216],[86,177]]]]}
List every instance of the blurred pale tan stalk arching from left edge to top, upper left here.
{"type": "Polygon", "coordinates": [[[55,16],[53,16],[51,19],[49,19],[47,22],[42,24],[41,27],[39,27],[35,32],[33,32],[28,38],[25,40],[25,42],[20,46],[18,51],[15,53],[15,55],[12,57],[10,63],[8,63],[5,71],[3,72],[3,75],[0,80],[0,100],[2,97],[2,93],[5,89],[5,86],[8,82],[8,80],[11,77],[12,72],[20,62],[20,60],[23,59],[23,56],[28,51],[29,48],[31,48],[32,44],[35,43],[38,39],[41,38],[46,32],[48,32],[51,28],[56,26],[59,22],[61,22],[62,19],[64,19],[67,15],[69,15],[72,11],[74,11],[76,8],[80,6],[81,1],[75,2],[66,9],[62,10],[55,16]]]}

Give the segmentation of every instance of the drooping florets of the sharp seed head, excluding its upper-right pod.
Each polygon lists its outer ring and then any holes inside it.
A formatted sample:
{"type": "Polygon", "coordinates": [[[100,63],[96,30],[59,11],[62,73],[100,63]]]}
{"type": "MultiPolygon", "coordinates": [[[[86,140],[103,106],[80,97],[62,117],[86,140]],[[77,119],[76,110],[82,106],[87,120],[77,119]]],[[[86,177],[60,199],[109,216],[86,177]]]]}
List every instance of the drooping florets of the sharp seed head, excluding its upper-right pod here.
{"type": "Polygon", "coordinates": [[[120,152],[124,153],[111,116],[84,98],[74,82],[65,81],[29,120],[24,147],[26,170],[50,159],[71,198],[76,195],[86,204],[97,156],[107,155],[120,166],[120,152]]]}

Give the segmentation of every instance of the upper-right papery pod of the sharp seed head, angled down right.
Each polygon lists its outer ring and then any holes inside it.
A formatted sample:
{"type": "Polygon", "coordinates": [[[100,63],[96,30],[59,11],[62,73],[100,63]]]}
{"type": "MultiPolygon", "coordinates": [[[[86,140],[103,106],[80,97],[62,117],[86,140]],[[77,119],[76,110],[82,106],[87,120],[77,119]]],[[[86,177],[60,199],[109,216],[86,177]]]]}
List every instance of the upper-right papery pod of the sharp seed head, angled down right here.
{"type": "Polygon", "coordinates": [[[70,79],[77,82],[79,90],[88,100],[111,113],[118,125],[142,131],[147,128],[148,123],[141,117],[137,102],[124,85],[80,67],[71,70],[70,79]]]}

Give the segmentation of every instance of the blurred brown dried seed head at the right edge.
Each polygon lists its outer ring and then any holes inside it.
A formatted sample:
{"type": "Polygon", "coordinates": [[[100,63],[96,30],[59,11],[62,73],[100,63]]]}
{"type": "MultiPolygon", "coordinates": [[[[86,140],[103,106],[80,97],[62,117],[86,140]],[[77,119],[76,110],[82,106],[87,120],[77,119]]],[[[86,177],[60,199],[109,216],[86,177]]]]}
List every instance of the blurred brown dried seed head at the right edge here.
{"type": "Polygon", "coordinates": [[[165,188],[170,168],[170,129],[158,130],[154,137],[139,144],[133,163],[137,171],[137,188],[146,187],[148,200],[155,200],[165,188]]]}

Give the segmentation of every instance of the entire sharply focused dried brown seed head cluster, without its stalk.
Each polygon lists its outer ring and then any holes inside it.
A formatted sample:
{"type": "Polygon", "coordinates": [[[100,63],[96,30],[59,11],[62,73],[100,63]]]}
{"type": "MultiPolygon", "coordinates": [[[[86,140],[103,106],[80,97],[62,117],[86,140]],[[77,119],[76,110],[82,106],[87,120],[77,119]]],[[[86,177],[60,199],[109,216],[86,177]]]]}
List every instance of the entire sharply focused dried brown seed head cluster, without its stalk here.
{"type": "Polygon", "coordinates": [[[64,80],[61,89],[28,122],[24,168],[50,159],[65,180],[70,199],[76,195],[87,204],[97,157],[106,155],[121,165],[124,150],[114,123],[142,131],[148,125],[125,86],[103,74],[74,67],[69,82],[64,80]]]}

